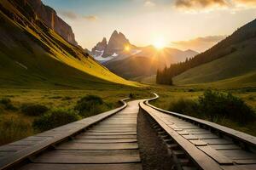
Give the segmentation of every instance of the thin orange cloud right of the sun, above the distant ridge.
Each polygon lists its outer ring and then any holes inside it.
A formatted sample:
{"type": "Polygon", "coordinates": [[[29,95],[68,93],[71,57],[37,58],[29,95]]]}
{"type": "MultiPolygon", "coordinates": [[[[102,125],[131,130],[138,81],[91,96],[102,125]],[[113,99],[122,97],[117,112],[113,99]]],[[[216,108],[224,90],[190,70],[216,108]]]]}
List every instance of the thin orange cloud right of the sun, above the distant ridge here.
{"type": "Polygon", "coordinates": [[[203,52],[208,48],[211,48],[217,42],[223,40],[226,36],[208,36],[208,37],[197,37],[188,41],[172,42],[173,48],[179,49],[193,49],[197,52],[203,52]]]}

